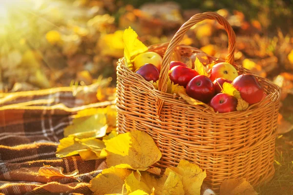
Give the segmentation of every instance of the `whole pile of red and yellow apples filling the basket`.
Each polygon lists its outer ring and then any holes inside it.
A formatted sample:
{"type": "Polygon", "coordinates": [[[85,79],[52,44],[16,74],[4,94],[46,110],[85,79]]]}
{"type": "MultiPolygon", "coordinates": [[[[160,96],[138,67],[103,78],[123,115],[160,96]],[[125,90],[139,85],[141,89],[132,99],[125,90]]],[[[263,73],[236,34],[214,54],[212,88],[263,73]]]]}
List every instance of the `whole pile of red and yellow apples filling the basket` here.
{"type": "MultiPolygon", "coordinates": [[[[155,52],[139,54],[134,59],[134,70],[147,81],[159,79],[162,57],[155,52]]],[[[199,73],[180,61],[171,61],[169,78],[174,84],[183,86],[189,97],[208,103],[215,112],[236,111],[237,99],[222,93],[223,84],[231,83],[240,92],[240,96],[249,104],[261,101],[265,96],[264,88],[252,74],[238,76],[233,65],[227,62],[217,63],[210,69],[210,77],[199,73]]]]}

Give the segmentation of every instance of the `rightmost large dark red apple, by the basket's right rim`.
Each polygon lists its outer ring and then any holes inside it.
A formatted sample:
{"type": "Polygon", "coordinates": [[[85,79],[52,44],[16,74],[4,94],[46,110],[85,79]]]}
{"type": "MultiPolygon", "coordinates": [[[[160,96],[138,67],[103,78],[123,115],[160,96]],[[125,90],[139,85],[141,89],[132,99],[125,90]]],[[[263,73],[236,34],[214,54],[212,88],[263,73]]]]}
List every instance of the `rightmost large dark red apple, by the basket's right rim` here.
{"type": "Polygon", "coordinates": [[[233,80],[232,85],[249,104],[260,102],[264,96],[264,88],[252,74],[239,75],[233,80]]]}

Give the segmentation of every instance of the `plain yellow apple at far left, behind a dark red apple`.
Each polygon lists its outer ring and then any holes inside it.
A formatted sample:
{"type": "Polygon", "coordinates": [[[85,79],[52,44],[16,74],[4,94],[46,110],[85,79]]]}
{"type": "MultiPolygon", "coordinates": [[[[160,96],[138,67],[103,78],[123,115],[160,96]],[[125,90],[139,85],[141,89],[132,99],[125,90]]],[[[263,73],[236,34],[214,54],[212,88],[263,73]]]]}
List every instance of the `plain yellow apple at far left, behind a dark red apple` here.
{"type": "Polygon", "coordinates": [[[160,72],[162,60],[163,60],[162,57],[155,52],[146,52],[146,53],[139,54],[134,59],[134,70],[137,70],[141,66],[147,63],[150,63],[155,65],[160,72]]]}

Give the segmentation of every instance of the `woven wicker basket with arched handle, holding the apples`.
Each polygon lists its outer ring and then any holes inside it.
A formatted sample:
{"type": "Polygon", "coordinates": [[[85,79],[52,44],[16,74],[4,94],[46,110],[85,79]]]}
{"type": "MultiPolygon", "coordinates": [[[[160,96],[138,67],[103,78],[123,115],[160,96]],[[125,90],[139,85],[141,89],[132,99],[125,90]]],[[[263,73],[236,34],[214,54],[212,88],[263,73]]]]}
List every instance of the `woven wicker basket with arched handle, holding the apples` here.
{"type": "MultiPolygon", "coordinates": [[[[206,182],[215,191],[228,178],[246,178],[256,186],[270,180],[274,174],[280,89],[268,79],[256,76],[268,96],[246,111],[222,114],[202,105],[189,105],[183,99],[166,93],[172,53],[177,50],[181,55],[190,56],[202,52],[178,44],[190,27],[205,19],[216,20],[227,31],[229,54],[226,61],[233,64],[240,74],[250,73],[234,63],[235,33],[228,21],[212,12],[196,14],[182,25],[169,44],[149,47],[149,51],[164,56],[158,90],[133,73],[124,59],[119,59],[118,131],[145,131],[153,137],[163,155],[156,166],[164,169],[186,159],[207,171],[206,182]]],[[[224,61],[211,56],[209,60],[224,61]]]]}

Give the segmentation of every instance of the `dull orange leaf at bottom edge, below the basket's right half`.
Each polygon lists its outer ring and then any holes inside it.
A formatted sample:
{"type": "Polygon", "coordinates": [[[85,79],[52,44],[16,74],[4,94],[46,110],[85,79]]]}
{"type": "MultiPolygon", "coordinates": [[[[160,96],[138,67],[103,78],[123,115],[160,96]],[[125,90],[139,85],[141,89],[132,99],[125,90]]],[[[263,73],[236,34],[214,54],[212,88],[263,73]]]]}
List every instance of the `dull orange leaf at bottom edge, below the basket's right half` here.
{"type": "Polygon", "coordinates": [[[249,182],[243,179],[224,180],[220,187],[220,195],[257,195],[249,182]]]}

